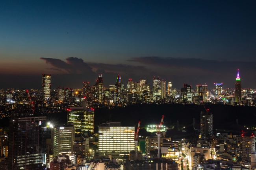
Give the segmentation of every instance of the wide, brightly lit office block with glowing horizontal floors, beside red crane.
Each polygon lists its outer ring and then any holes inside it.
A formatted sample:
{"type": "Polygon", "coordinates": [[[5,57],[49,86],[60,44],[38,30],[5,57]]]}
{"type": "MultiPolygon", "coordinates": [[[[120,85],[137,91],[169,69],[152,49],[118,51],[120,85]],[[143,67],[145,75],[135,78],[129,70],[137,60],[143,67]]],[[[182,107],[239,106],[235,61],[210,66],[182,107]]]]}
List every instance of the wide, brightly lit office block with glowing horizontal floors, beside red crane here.
{"type": "Polygon", "coordinates": [[[121,126],[121,122],[106,122],[99,126],[99,152],[112,151],[128,154],[135,149],[134,126],[121,126]]]}

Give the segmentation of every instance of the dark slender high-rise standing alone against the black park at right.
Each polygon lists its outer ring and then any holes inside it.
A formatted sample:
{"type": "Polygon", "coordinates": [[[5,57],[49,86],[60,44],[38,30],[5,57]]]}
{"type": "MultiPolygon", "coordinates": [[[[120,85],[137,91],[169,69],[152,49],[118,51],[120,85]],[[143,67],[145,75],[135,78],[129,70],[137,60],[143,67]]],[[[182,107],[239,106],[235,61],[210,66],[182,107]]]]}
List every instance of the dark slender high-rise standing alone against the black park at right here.
{"type": "Polygon", "coordinates": [[[202,136],[211,137],[213,135],[213,120],[212,114],[201,112],[200,114],[200,132],[202,136]]]}

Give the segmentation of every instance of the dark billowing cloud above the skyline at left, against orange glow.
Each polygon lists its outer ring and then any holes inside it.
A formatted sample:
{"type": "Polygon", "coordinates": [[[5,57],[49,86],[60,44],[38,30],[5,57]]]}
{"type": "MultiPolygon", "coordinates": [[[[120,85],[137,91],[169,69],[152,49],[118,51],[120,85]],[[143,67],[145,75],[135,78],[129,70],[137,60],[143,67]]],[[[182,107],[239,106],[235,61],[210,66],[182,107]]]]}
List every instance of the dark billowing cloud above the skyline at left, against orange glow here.
{"type": "Polygon", "coordinates": [[[50,64],[58,69],[64,69],[69,73],[88,73],[93,72],[92,68],[88,66],[81,58],[68,57],[67,62],[57,58],[40,58],[45,60],[46,64],[50,64]]]}

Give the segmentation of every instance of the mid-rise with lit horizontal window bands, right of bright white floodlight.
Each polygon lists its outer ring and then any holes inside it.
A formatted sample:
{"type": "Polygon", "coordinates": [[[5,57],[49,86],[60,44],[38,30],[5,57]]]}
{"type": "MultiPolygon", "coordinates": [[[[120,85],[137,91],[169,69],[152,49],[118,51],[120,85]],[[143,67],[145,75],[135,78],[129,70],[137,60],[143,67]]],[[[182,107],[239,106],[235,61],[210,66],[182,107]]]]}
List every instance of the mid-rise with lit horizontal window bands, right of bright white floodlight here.
{"type": "Polygon", "coordinates": [[[61,153],[73,154],[75,132],[72,123],[65,126],[53,127],[51,134],[54,156],[58,156],[61,153]]]}

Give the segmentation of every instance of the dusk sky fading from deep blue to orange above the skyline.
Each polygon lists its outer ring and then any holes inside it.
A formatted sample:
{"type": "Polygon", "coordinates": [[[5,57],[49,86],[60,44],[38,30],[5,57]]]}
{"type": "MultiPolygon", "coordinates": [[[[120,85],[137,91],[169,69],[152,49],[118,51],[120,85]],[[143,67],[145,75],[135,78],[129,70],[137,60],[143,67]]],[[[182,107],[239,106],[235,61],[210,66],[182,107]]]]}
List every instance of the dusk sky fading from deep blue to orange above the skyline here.
{"type": "Polygon", "coordinates": [[[256,88],[256,1],[1,1],[0,89],[128,78],[256,88]]]}

